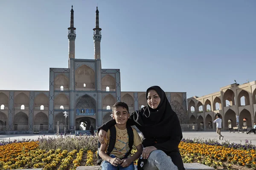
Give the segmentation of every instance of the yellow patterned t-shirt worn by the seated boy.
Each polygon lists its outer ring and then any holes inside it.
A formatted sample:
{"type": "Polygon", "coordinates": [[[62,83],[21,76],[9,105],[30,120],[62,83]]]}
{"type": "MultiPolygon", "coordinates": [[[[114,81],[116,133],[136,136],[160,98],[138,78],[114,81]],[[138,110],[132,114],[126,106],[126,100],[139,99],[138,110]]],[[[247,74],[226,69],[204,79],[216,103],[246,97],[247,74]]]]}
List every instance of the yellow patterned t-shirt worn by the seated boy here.
{"type": "MultiPolygon", "coordinates": [[[[134,146],[137,147],[139,144],[142,143],[142,141],[140,139],[139,134],[137,133],[137,130],[134,128],[132,128],[132,130],[134,133],[134,146]]],[[[110,130],[108,130],[108,139],[109,138],[110,138],[110,130]]],[[[127,129],[121,130],[118,127],[116,127],[116,144],[114,149],[111,152],[111,155],[114,155],[122,159],[125,156],[125,154],[130,150],[128,140],[129,138],[128,138],[127,129]]],[[[108,145],[109,140],[105,139],[105,142],[108,145]]],[[[107,151],[107,148],[106,148],[106,151],[107,151]]]]}

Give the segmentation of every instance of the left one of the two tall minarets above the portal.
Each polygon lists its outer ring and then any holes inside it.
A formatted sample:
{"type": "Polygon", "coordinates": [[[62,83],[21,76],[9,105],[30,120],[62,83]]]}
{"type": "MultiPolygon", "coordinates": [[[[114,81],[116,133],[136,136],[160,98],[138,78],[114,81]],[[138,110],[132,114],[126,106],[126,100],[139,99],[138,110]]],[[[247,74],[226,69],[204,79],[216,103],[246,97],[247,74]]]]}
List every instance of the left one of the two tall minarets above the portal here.
{"type": "MultiPolygon", "coordinates": [[[[69,40],[69,51],[68,51],[68,58],[75,58],[75,40],[76,40],[76,28],[74,28],[74,10],[73,6],[70,11],[70,28],[68,29],[68,40],[69,40]]],[[[70,62],[69,62],[70,63],[70,62]]],[[[68,65],[70,68],[70,65],[68,65]]]]}

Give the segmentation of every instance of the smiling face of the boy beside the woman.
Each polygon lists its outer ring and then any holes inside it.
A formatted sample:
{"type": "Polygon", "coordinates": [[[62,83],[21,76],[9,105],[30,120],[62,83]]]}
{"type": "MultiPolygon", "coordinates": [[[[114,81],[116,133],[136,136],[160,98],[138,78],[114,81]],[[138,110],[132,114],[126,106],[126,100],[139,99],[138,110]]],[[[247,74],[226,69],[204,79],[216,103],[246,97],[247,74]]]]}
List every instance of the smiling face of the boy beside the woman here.
{"type": "Polygon", "coordinates": [[[128,111],[126,108],[119,106],[114,109],[113,119],[116,120],[117,124],[124,125],[128,120],[128,111]]]}

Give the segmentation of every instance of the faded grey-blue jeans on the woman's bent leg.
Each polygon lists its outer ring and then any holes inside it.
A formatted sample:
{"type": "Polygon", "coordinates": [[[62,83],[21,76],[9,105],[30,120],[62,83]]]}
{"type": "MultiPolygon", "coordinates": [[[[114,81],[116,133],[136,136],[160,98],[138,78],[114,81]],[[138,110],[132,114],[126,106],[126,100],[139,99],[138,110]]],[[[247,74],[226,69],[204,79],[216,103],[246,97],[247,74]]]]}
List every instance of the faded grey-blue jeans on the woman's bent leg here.
{"type": "Polygon", "coordinates": [[[148,157],[148,162],[143,167],[144,170],[178,170],[172,162],[170,156],[167,156],[162,150],[154,150],[148,157]]]}

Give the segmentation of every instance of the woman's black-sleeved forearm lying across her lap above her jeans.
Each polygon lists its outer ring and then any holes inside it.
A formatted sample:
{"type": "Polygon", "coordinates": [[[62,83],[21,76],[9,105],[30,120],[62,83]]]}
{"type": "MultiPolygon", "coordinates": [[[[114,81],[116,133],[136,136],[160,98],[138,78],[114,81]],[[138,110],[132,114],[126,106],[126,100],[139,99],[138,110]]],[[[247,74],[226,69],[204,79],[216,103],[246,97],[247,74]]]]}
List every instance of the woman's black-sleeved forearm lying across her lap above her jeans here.
{"type": "Polygon", "coordinates": [[[166,142],[154,144],[154,147],[156,147],[158,150],[163,150],[164,152],[176,151],[180,144],[180,140],[181,136],[176,136],[176,139],[172,138],[166,142]]]}

